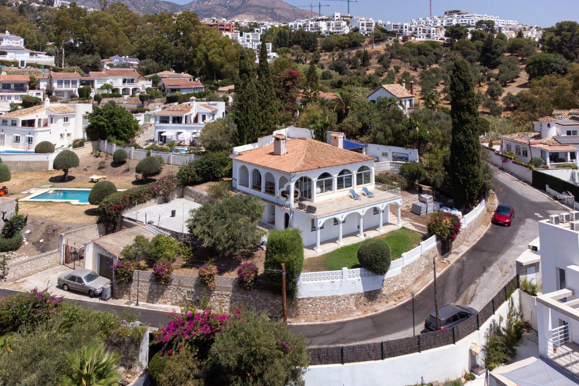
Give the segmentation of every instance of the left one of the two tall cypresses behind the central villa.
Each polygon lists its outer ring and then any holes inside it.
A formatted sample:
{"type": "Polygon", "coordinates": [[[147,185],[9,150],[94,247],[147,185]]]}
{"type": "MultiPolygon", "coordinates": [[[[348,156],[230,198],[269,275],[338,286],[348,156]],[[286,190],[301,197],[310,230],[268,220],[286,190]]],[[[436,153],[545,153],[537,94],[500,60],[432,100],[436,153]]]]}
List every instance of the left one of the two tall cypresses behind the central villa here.
{"type": "Polygon", "coordinates": [[[255,87],[255,71],[247,52],[241,50],[239,55],[239,75],[235,78],[235,111],[233,121],[237,124],[237,139],[245,145],[258,137],[259,123],[258,94],[255,87]]]}

